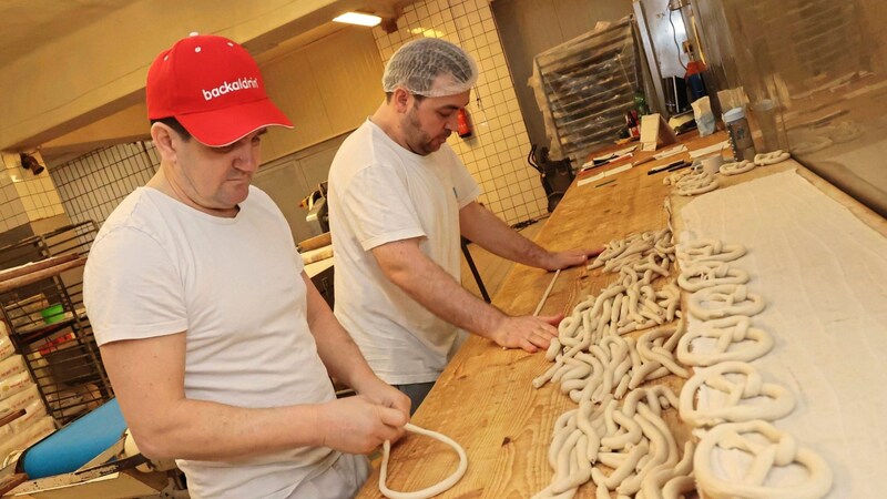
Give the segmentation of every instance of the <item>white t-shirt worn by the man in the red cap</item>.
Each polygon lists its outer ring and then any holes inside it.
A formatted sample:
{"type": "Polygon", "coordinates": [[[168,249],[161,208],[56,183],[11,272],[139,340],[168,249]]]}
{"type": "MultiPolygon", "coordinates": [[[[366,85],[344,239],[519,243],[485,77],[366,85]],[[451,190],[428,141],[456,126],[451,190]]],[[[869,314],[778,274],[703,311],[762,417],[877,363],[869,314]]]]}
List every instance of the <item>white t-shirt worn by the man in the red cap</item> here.
{"type": "MultiPolygon", "coordinates": [[[[186,332],[190,399],[251,408],[333,400],[289,226],[256,187],[239,207],[224,218],[151,187],[130,194],[86,262],[83,298],[95,338],[103,345],[186,332]]],[[[337,457],[323,447],[177,464],[193,498],[278,498],[337,457]]]]}

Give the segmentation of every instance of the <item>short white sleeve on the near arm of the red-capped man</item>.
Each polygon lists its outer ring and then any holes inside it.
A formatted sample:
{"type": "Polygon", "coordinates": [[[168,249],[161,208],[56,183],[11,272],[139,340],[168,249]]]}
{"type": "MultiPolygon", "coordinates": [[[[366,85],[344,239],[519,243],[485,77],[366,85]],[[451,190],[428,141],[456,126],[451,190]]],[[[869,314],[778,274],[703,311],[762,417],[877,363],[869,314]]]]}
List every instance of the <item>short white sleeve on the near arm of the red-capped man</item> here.
{"type": "Polygon", "coordinates": [[[187,329],[175,265],[154,238],[132,227],[110,231],[90,249],[83,303],[99,345],[187,329]]]}

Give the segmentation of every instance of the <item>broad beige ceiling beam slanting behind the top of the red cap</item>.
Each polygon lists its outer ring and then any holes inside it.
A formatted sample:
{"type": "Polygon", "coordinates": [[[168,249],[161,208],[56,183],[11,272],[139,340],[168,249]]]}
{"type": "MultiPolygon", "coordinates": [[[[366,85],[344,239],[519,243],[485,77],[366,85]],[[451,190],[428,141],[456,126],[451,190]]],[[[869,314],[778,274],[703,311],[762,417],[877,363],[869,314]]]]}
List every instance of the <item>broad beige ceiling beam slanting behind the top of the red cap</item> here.
{"type": "Polygon", "coordinates": [[[159,48],[188,32],[228,37],[255,54],[318,26],[318,19],[327,22],[350,3],[133,1],[0,70],[0,150],[33,147],[142,102],[159,48]]]}

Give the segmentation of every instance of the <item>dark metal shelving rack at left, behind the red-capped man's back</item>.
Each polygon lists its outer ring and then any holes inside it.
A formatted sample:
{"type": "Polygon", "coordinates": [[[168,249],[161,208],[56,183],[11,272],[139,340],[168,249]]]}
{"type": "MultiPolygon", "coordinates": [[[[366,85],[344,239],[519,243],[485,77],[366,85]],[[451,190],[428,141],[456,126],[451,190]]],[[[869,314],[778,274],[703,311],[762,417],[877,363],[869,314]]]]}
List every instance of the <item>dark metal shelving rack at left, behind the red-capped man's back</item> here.
{"type": "Polygon", "coordinates": [[[0,273],[0,312],[60,424],[113,398],[83,307],[83,265],[96,232],[94,222],[83,222],[0,248],[2,268],[35,264],[0,273]],[[51,313],[51,305],[61,309],[51,313]]]}

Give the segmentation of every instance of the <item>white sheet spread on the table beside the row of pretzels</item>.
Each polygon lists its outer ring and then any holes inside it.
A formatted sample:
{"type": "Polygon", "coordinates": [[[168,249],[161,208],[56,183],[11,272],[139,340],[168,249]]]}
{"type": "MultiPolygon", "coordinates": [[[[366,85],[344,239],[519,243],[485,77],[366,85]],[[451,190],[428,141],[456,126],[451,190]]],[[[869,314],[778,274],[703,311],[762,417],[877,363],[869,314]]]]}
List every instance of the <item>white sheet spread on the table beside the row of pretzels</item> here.
{"type": "MultiPolygon", "coordinates": [[[[830,465],[827,497],[883,497],[887,238],[794,171],[700,196],[681,216],[682,242],[715,237],[748,248],[731,265],[752,275],[750,292],[767,303],[752,324],[775,339],[752,364],[797,398],[776,427],[830,465]]],[[[691,318],[691,329],[699,325],[691,318]]]]}

